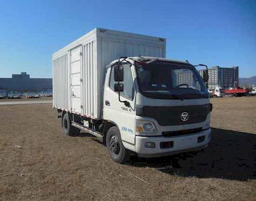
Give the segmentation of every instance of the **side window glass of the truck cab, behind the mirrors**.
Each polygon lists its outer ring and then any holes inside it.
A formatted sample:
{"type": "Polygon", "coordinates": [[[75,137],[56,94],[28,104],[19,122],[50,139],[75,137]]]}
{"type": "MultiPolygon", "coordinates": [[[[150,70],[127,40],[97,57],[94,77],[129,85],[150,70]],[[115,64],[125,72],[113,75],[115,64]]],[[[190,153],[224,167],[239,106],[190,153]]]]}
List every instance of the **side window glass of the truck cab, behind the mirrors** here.
{"type": "MultiPolygon", "coordinates": [[[[115,91],[115,84],[118,82],[115,82],[114,77],[114,66],[111,68],[111,77],[109,82],[109,87],[115,91]]],[[[129,99],[133,99],[133,76],[131,74],[131,67],[127,64],[123,65],[123,82],[120,82],[123,84],[123,92],[120,92],[121,96],[129,99]]]]}

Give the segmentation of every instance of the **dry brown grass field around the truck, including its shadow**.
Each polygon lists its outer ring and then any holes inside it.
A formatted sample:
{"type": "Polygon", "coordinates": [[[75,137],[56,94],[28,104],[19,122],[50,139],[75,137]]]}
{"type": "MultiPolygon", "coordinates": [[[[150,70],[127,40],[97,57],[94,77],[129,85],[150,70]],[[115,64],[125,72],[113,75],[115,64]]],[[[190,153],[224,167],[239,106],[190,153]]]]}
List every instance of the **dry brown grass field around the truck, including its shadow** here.
{"type": "Polygon", "coordinates": [[[256,97],[212,98],[205,151],[113,162],[51,104],[0,106],[0,200],[256,200],[256,97]]]}

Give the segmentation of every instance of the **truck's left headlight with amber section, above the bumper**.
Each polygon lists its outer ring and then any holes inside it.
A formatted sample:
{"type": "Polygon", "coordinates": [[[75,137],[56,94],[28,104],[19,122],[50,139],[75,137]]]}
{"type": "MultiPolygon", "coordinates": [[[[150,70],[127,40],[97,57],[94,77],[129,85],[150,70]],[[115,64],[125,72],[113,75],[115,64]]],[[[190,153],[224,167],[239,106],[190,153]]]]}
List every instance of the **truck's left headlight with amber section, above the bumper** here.
{"type": "Polygon", "coordinates": [[[137,135],[155,135],[157,130],[155,125],[150,121],[136,120],[136,134],[137,135]]]}

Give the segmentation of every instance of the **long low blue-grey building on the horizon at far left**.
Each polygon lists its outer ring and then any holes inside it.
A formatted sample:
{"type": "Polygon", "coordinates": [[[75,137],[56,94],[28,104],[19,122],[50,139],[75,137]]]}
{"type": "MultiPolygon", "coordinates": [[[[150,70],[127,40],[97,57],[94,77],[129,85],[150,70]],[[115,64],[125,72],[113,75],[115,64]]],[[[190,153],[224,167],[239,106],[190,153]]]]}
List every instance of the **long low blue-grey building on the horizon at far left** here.
{"type": "Polygon", "coordinates": [[[13,74],[12,78],[0,78],[0,91],[52,92],[52,78],[29,78],[29,74],[13,74]]]}

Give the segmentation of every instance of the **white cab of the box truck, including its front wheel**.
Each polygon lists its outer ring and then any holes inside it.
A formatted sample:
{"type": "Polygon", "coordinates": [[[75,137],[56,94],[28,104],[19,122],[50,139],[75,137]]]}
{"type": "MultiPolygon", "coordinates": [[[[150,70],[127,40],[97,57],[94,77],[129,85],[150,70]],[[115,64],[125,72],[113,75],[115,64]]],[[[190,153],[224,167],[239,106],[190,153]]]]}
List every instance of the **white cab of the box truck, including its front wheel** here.
{"type": "Polygon", "coordinates": [[[103,119],[111,157],[131,151],[158,157],[198,150],[210,141],[208,90],[192,64],[166,58],[119,58],[107,66],[103,119]]]}

